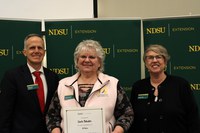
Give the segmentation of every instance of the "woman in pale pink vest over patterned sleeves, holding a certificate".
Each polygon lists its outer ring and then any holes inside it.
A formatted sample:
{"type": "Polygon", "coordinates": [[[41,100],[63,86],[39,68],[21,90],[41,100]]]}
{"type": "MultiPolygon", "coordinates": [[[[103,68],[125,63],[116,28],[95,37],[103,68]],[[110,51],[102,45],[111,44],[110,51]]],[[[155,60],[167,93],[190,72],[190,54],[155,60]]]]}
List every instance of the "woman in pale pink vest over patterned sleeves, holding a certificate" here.
{"type": "Polygon", "coordinates": [[[84,40],[74,52],[77,73],[59,82],[47,114],[51,133],[66,133],[66,107],[100,107],[105,112],[106,133],[124,133],[132,124],[133,109],[119,80],[104,74],[105,53],[99,42],[84,40]]]}

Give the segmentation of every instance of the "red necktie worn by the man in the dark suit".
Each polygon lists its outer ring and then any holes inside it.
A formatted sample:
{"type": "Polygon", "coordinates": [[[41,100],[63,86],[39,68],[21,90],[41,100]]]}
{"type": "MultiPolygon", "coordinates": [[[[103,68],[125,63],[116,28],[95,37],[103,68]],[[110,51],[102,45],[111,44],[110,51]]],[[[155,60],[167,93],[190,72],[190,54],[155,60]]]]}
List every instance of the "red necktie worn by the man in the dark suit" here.
{"type": "Polygon", "coordinates": [[[44,102],[44,88],[43,88],[42,79],[40,77],[40,72],[35,71],[33,72],[33,75],[36,77],[35,83],[38,84],[37,95],[40,102],[40,108],[41,108],[41,111],[44,112],[44,103],[45,103],[44,102]]]}

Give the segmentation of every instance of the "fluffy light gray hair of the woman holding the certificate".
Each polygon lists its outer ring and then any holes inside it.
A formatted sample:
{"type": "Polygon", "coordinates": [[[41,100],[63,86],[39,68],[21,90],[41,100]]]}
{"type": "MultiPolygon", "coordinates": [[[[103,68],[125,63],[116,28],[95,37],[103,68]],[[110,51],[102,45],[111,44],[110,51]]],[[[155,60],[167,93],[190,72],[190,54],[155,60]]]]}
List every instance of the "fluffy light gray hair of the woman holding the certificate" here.
{"type": "Polygon", "coordinates": [[[99,71],[103,72],[104,71],[104,60],[105,60],[105,52],[101,46],[101,44],[98,41],[95,40],[83,40],[78,44],[74,51],[74,64],[75,64],[75,69],[79,71],[79,68],[77,67],[77,62],[79,55],[82,51],[87,51],[90,49],[94,49],[97,53],[97,56],[100,60],[100,67],[99,71]]]}

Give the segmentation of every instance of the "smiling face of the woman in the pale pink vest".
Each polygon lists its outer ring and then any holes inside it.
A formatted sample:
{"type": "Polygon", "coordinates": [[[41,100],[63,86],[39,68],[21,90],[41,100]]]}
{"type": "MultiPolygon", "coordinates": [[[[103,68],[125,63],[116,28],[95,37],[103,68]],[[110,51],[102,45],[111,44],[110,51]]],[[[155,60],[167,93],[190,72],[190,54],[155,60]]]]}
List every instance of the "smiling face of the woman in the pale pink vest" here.
{"type": "Polygon", "coordinates": [[[77,60],[77,67],[81,73],[96,74],[101,66],[95,49],[80,52],[77,60]]]}

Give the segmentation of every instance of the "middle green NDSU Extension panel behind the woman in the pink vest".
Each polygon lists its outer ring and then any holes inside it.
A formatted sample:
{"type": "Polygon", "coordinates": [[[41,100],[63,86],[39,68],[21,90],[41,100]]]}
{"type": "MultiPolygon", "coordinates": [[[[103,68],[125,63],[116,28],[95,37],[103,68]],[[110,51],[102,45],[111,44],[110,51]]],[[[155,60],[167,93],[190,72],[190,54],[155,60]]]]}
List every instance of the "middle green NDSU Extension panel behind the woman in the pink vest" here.
{"type": "Polygon", "coordinates": [[[75,74],[75,47],[94,39],[106,52],[105,73],[120,79],[129,93],[141,78],[140,27],[141,20],[46,21],[47,66],[61,78],[75,74]]]}

